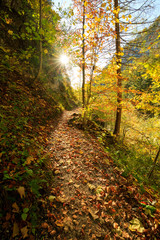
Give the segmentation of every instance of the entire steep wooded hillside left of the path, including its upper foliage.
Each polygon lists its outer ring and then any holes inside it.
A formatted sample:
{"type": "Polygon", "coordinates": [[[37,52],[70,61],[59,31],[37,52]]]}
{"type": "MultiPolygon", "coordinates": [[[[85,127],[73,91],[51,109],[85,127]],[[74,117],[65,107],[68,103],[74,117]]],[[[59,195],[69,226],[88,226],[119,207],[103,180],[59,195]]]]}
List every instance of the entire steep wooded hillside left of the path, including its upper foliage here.
{"type": "Polygon", "coordinates": [[[26,228],[35,234],[39,199],[53,180],[46,168],[49,135],[63,110],[76,106],[65,68],[54,63],[59,16],[48,1],[44,3],[48,9],[43,16],[43,69],[35,81],[38,6],[28,1],[0,2],[1,239],[25,238],[26,228]],[[17,238],[19,231],[21,237],[17,238]]]}

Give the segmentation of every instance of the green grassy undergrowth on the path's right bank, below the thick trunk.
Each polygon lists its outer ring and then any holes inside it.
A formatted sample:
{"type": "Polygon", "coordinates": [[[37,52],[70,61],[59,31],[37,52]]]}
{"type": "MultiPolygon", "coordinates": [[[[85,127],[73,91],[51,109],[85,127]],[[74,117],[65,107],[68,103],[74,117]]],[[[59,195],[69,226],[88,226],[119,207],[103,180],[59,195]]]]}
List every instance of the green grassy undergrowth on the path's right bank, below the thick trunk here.
{"type": "MultiPolygon", "coordinates": [[[[147,188],[152,188],[156,192],[160,189],[160,164],[157,163],[156,168],[151,178],[149,173],[153,165],[153,159],[147,153],[137,152],[134,146],[124,145],[123,142],[108,144],[106,151],[110,153],[115,163],[123,172],[122,175],[127,177],[132,174],[135,178],[135,183],[138,183],[142,191],[147,188]]],[[[147,191],[151,191],[147,189],[147,191]]],[[[160,192],[159,192],[160,193],[160,192]]]]}

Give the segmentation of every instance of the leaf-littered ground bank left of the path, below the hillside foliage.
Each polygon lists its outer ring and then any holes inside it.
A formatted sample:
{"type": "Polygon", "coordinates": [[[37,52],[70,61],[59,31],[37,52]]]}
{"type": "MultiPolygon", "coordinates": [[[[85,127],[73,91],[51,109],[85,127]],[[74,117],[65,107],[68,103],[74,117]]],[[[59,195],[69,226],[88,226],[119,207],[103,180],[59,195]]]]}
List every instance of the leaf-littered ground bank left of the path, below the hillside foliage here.
{"type": "Polygon", "coordinates": [[[57,94],[42,82],[28,85],[30,80],[12,71],[0,85],[1,239],[19,239],[24,227],[27,234],[35,234],[38,199],[52,180],[46,167],[49,134],[62,110],[74,105],[71,87],[63,79],[63,92],[58,89],[57,94]]]}

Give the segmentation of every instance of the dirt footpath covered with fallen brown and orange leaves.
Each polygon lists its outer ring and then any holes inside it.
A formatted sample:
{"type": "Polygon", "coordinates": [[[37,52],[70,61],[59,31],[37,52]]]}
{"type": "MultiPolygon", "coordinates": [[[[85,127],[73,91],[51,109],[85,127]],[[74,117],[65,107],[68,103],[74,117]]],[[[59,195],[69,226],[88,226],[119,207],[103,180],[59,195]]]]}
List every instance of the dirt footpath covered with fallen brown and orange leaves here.
{"type": "Polygon", "coordinates": [[[95,139],[68,125],[73,112],[63,113],[51,136],[55,177],[41,235],[58,240],[152,239],[154,219],[148,220],[140,208],[133,179],[121,176],[95,139]],[[135,224],[139,232],[130,230],[135,224]]]}

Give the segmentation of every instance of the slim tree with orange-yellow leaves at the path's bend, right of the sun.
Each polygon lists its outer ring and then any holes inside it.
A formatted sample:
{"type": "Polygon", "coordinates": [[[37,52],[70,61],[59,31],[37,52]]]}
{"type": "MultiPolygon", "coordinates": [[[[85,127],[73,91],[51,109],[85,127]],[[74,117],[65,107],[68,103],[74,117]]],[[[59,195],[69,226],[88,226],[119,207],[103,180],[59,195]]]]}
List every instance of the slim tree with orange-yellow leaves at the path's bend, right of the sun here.
{"type": "MultiPolygon", "coordinates": [[[[79,27],[82,24],[82,43],[80,41],[75,42],[75,39],[74,43],[76,48],[77,45],[82,46],[80,49],[82,54],[78,54],[77,62],[81,62],[78,65],[81,65],[82,69],[82,104],[83,107],[85,105],[87,108],[91,98],[91,89],[98,59],[101,57],[102,51],[108,47],[106,44],[108,36],[113,33],[111,34],[110,31],[109,13],[106,3],[102,0],[75,0],[74,2],[78,12],[78,21],[80,21],[77,25],[79,27]],[[85,84],[87,85],[87,91],[85,84]]],[[[79,39],[79,29],[77,29],[76,34],[79,39]]],[[[77,53],[78,50],[76,51],[77,53]]]]}

